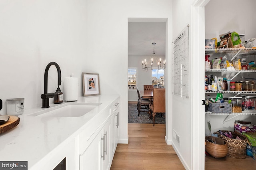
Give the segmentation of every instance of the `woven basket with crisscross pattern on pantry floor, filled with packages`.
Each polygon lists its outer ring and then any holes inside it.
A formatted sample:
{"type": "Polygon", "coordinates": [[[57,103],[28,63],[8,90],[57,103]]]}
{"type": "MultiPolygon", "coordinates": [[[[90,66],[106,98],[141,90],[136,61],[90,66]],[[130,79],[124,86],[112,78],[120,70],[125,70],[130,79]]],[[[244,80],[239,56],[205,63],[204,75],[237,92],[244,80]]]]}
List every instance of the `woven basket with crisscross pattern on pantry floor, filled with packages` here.
{"type": "Polygon", "coordinates": [[[231,158],[236,158],[236,159],[245,159],[246,158],[246,145],[247,143],[250,144],[250,142],[248,141],[248,139],[246,138],[246,136],[242,135],[242,134],[238,134],[237,132],[232,132],[229,130],[221,130],[222,132],[231,132],[231,134],[233,135],[234,138],[236,138],[237,136],[239,138],[241,138],[242,140],[238,140],[238,139],[231,139],[228,138],[222,134],[220,134],[220,132],[214,132],[214,134],[218,134],[219,138],[222,138],[223,140],[225,140],[228,144],[228,156],[230,156],[231,158]]]}

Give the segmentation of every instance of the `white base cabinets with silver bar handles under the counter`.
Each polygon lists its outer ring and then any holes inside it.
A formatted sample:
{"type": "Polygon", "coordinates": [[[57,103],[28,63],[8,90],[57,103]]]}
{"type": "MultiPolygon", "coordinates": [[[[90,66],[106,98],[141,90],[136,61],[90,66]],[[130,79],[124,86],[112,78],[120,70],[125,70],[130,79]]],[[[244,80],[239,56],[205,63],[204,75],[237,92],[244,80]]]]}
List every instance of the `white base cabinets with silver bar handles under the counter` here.
{"type": "Polygon", "coordinates": [[[76,137],[79,170],[109,170],[119,136],[119,98],[95,117],[76,137]]]}

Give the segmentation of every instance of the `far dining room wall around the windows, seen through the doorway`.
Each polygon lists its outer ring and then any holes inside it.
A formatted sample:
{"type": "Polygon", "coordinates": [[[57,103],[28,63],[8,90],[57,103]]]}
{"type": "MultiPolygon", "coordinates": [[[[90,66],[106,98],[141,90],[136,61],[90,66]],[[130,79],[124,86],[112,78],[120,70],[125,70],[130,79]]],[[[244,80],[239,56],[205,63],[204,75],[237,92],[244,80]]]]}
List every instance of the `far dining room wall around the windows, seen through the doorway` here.
{"type": "MultiPolygon", "coordinates": [[[[152,84],[152,70],[142,70],[142,60],[146,59],[146,61],[151,61],[152,56],[129,56],[128,57],[128,67],[136,67],[137,68],[137,82],[136,86],[139,90],[143,90],[143,85],[151,85],[152,84]]],[[[155,58],[156,61],[159,59],[164,61],[165,56],[157,56],[155,58]]],[[[157,66],[155,63],[154,66],[157,66]]],[[[157,67],[156,67],[157,69],[157,67]]],[[[128,91],[128,101],[137,101],[138,94],[136,90],[128,91]]]]}

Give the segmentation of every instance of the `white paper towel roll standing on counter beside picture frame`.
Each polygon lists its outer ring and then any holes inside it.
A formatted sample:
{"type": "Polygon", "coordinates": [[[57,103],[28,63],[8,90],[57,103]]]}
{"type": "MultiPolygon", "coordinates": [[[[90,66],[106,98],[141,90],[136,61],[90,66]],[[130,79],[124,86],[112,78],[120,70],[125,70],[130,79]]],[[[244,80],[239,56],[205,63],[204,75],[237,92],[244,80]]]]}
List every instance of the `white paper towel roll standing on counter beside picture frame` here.
{"type": "Polygon", "coordinates": [[[65,77],[63,95],[65,101],[77,101],[78,77],[65,77]]]}

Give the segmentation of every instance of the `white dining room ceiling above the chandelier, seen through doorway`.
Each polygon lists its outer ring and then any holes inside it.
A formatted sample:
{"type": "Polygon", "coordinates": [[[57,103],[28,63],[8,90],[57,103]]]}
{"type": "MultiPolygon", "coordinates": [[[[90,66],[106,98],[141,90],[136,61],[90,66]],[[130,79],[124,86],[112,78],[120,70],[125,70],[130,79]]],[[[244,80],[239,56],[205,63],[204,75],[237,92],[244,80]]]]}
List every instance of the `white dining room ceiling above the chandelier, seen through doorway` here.
{"type": "Polygon", "coordinates": [[[128,56],[165,56],[165,22],[129,22],[128,56]]]}

